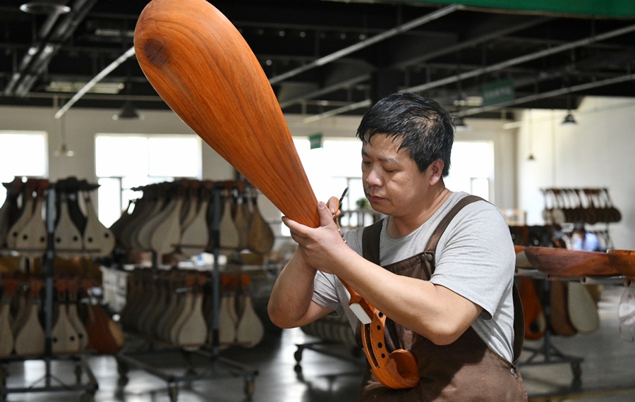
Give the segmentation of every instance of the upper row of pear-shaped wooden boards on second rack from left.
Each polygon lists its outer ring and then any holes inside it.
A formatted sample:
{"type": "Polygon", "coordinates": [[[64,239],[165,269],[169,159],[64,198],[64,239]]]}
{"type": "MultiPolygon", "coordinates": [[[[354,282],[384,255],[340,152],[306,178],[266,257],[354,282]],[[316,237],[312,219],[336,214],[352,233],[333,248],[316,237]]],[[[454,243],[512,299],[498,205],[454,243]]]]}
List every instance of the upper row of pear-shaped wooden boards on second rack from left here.
{"type": "Polygon", "coordinates": [[[274,245],[274,234],[258,209],[258,190],[244,181],[193,181],[181,179],[134,190],[143,196],[131,201],[110,229],[124,250],[157,255],[192,257],[214,248],[214,186],[222,188],[219,246],[235,260],[249,250],[265,255],[274,245]],[[239,257],[239,255],[238,255],[239,257]]]}

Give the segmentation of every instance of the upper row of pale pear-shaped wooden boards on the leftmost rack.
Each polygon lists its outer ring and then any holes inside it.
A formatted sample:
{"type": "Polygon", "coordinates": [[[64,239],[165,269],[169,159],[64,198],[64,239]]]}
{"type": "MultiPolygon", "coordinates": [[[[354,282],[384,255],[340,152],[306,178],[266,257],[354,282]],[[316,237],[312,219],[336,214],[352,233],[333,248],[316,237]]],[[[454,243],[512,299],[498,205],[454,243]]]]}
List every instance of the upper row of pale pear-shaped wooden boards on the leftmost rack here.
{"type": "Polygon", "coordinates": [[[114,249],[113,233],[99,221],[92,205],[90,194],[99,185],[74,177],[57,183],[37,178],[23,182],[15,178],[3,185],[7,197],[0,208],[0,248],[32,259],[42,256],[47,248],[44,208],[50,187],[56,191],[56,257],[104,257],[114,249]]]}

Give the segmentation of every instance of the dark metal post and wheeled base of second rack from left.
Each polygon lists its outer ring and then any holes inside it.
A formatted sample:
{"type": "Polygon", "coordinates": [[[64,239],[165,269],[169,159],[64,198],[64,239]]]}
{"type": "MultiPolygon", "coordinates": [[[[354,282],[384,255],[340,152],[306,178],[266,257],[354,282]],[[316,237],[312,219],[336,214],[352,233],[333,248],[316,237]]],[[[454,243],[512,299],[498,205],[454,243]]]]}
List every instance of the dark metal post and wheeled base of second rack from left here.
{"type": "MultiPolygon", "coordinates": [[[[220,308],[220,286],[219,286],[219,253],[220,253],[220,193],[222,188],[214,185],[213,200],[214,214],[212,231],[214,233],[214,264],[212,270],[212,345],[211,351],[195,349],[189,351],[183,348],[169,346],[167,343],[147,339],[146,337],[135,336],[142,341],[142,347],[137,351],[121,351],[115,357],[119,372],[119,384],[126,384],[128,381],[128,371],[130,367],[155,375],[167,382],[169,397],[172,402],[176,402],[179,397],[179,384],[197,381],[200,379],[224,379],[243,377],[244,390],[247,398],[251,398],[254,392],[254,379],[258,374],[255,370],[246,365],[234,362],[220,356],[219,351],[219,317],[220,308]],[[181,370],[162,369],[149,363],[149,360],[157,357],[157,353],[167,355],[171,353],[181,357],[181,370]],[[184,370],[184,371],[183,371],[184,370]]],[[[153,265],[157,265],[157,255],[153,254],[153,265]]],[[[174,360],[173,360],[174,363],[174,360]]]]}

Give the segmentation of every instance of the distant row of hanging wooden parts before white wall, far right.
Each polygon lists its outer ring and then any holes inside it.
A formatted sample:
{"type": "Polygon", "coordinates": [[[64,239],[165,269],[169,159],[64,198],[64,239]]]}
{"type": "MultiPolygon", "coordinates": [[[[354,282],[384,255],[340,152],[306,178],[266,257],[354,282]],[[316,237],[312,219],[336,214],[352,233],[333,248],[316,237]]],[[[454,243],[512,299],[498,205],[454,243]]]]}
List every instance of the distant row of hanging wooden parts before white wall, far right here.
{"type": "Polygon", "coordinates": [[[545,188],[545,224],[615,223],[622,213],[613,205],[606,188],[545,188]]]}

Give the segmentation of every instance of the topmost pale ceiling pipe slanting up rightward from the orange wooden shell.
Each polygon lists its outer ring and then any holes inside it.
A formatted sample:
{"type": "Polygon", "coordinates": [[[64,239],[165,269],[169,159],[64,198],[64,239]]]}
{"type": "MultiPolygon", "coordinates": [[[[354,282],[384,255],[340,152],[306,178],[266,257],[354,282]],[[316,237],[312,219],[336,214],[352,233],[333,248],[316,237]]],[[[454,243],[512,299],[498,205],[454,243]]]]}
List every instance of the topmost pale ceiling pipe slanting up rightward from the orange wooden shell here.
{"type": "Polygon", "coordinates": [[[349,47],[345,47],[344,49],[338,50],[332,54],[328,54],[327,56],[320,57],[320,59],[317,59],[313,61],[312,63],[308,63],[304,66],[294,68],[291,71],[287,71],[286,73],[276,75],[270,78],[269,83],[271,85],[274,85],[281,81],[286,80],[287,78],[291,78],[298,74],[304,73],[305,71],[312,70],[313,68],[316,68],[319,66],[324,66],[327,63],[331,63],[332,61],[341,59],[344,56],[348,56],[349,54],[355,51],[364,49],[365,47],[369,47],[370,45],[373,45],[377,42],[381,42],[382,40],[388,39],[389,37],[394,37],[403,32],[411,30],[413,28],[417,28],[420,25],[429,23],[430,21],[437,20],[438,18],[441,18],[443,16],[447,16],[449,13],[454,13],[454,11],[460,10],[461,8],[463,8],[463,6],[461,6],[460,4],[453,4],[452,6],[441,8],[440,10],[434,11],[433,13],[427,14],[421,18],[412,20],[409,23],[405,23],[405,24],[399,25],[396,28],[392,28],[392,30],[387,30],[386,32],[383,32],[373,37],[370,37],[368,39],[365,39],[349,47]]]}

